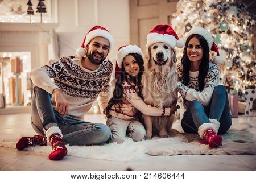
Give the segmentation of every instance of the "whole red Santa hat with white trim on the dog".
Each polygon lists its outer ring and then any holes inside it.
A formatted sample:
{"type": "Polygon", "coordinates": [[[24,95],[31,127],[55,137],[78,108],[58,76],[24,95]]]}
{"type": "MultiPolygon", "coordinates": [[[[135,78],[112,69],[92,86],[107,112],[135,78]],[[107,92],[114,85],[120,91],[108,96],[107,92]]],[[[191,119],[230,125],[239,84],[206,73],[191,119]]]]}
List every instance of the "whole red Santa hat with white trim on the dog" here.
{"type": "Polygon", "coordinates": [[[153,30],[147,35],[146,47],[150,47],[152,44],[157,42],[167,43],[171,48],[184,47],[184,40],[179,39],[176,32],[168,24],[160,24],[155,26],[153,30]]]}

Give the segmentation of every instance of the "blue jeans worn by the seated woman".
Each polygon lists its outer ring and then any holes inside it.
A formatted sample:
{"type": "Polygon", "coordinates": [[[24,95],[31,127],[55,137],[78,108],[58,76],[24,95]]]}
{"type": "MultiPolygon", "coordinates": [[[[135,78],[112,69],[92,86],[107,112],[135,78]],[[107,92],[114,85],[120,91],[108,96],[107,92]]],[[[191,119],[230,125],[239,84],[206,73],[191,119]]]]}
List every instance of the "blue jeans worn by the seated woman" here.
{"type": "Polygon", "coordinates": [[[208,106],[203,106],[201,102],[185,101],[187,110],[181,121],[181,126],[185,133],[197,133],[199,126],[209,123],[209,118],[220,122],[218,134],[223,134],[232,125],[232,119],[229,109],[228,95],[222,85],[216,86],[212,94],[212,100],[208,106]]]}

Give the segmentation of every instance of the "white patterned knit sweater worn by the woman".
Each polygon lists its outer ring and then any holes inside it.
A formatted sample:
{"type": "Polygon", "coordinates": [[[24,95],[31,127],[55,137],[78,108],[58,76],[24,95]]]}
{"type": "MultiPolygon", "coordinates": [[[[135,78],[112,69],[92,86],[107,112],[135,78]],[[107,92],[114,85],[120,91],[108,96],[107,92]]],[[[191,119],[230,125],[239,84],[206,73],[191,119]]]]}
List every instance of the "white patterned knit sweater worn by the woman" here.
{"type": "MultiPolygon", "coordinates": [[[[188,86],[185,86],[182,82],[177,83],[179,93],[185,100],[197,100],[201,102],[204,106],[207,106],[212,98],[214,88],[218,85],[219,73],[220,69],[218,68],[218,66],[210,61],[209,70],[204,80],[204,89],[200,92],[198,82],[199,71],[189,71],[190,81],[188,83],[188,86]]],[[[183,76],[183,65],[181,64],[181,62],[179,62],[177,65],[177,74],[179,78],[183,76]]]]}

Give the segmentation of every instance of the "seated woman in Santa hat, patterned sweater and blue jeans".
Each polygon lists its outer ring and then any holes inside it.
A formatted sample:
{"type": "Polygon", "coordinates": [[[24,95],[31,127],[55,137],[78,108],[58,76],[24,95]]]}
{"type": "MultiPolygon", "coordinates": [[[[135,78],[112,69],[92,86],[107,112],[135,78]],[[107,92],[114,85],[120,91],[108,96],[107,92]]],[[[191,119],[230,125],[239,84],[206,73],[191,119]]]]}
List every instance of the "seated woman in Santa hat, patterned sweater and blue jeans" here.
{"type": "Polygon", "coordinates": [[[232,124],[225,87],[218,85],[219,68],[222,60],[210,32],[202,27],[192,28],[177,73],[179,93],[187,110],[181,120],[185,133],[197,133],[200,143],[210,147],[221,146],[223,134],[232,124]],[[213,62],[209,51],[217,52],[213,62]]]}

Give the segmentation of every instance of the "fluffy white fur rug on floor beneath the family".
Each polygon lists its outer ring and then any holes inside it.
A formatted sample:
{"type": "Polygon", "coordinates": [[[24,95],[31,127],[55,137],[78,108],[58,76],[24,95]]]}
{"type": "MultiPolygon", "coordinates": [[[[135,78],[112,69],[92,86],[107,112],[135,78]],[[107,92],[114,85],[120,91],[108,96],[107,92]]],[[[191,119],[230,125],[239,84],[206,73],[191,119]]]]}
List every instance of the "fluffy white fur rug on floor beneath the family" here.
{"type": "MultiPolygon", "coordinates": [[[[223,142],[219,148],[209,148],[208,145],[199,143],[198,134],[180,133],[180,123],[175,123],[170,138],[154,137],[151,140],[133,142],[127,139],[122,144],[110,143],[102,146],[67,146],[68,156],[77,156],[87,159],[111,160],[118,162],[132,162],[140,158],[151,156],[171,155],[256,155],[256,131],[255,127],[232,126],[228,133],[222,135],[223,142]],[[179,132],[178,132],[179,131],[179,132]]],[[[1,147],[15,148],[15,144],[22,136],[33,136],[35,133],[28,129],[26,133],[0,139],[1,147]]],[[[49,154],[51,146],[25,148],[27,151],[49,154]]]]}

